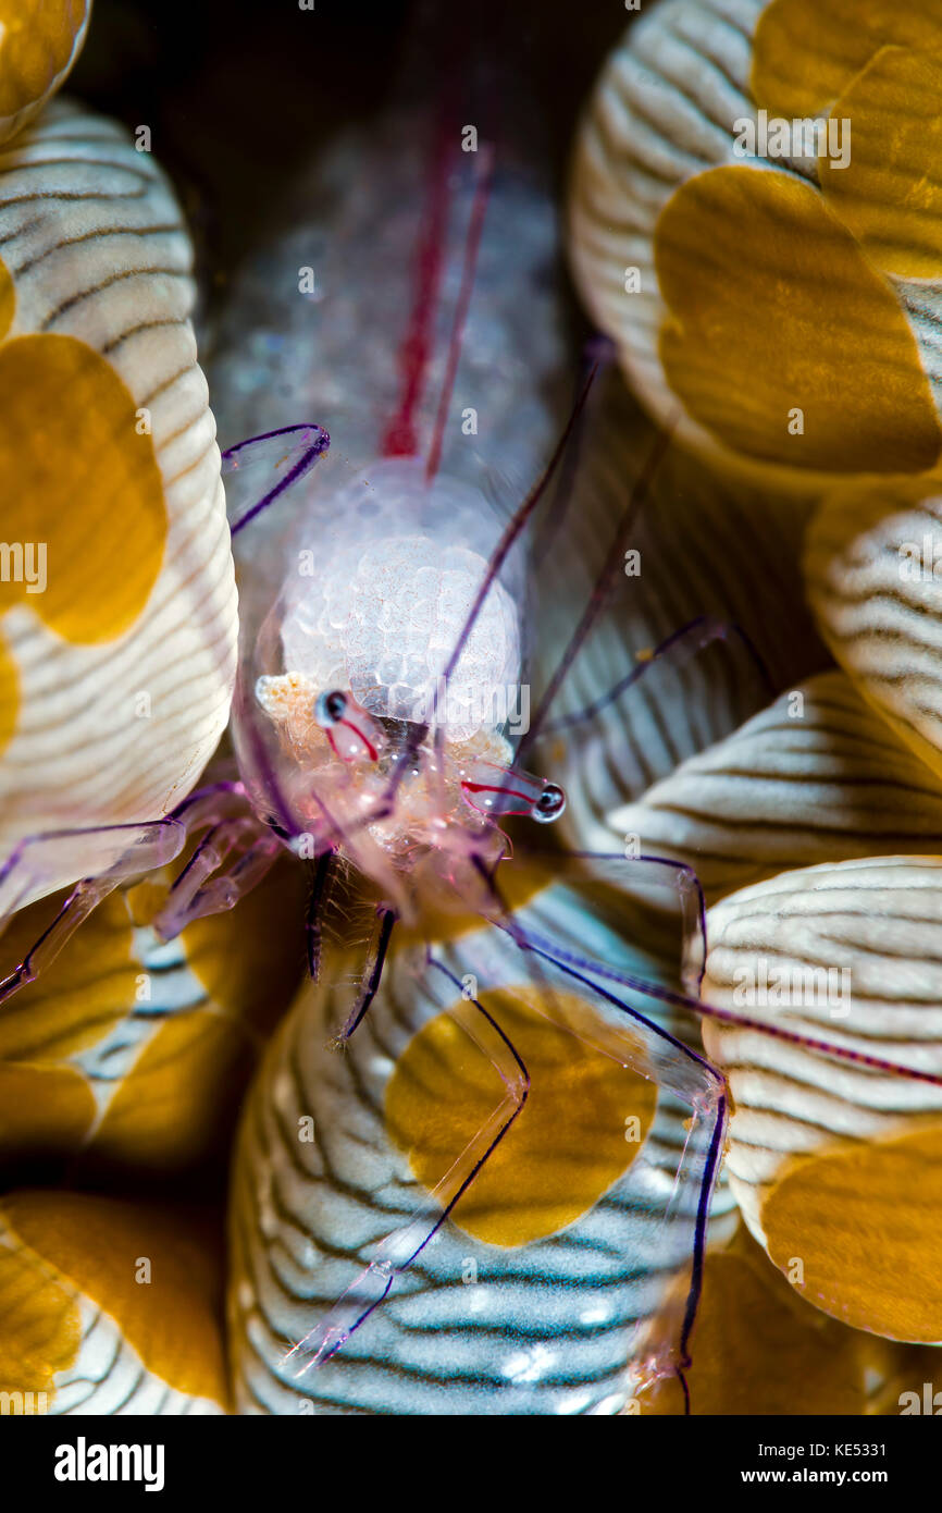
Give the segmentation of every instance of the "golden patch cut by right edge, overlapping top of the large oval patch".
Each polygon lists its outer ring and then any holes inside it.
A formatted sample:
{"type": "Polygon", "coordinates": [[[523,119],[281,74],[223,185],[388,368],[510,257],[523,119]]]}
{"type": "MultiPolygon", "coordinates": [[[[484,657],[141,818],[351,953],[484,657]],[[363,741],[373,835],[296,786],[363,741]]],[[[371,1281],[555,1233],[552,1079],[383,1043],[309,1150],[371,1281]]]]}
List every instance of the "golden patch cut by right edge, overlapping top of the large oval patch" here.
{"type": "Polygon", "coordinates": [[[942,274],[942,56],[900,47],[877,53],[838,100],[851,123],[847,168],[821,160],[821,188],[835,215],[885,272],[942,274]]]}

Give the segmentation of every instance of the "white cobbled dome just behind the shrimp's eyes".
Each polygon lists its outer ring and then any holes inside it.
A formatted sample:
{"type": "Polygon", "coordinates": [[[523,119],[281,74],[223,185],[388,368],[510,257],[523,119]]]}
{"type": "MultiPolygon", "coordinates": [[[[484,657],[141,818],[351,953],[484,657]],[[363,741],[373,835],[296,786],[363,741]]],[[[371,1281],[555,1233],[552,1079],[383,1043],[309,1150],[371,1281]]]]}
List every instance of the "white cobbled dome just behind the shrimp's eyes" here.
{"type": "MultiPolygon", "coordinates": [[[[497,534],[481,493],[448,478],[428,486],[411,458],[358,474],[331,502],[315,576],[287,589],[286,667],[319,691],[349,690],[373,717],[429,723],[497,534]]],[[[519,675],[517,610],[496,583],[449,679],[446,743],[487,731],[519,675]]]]}

